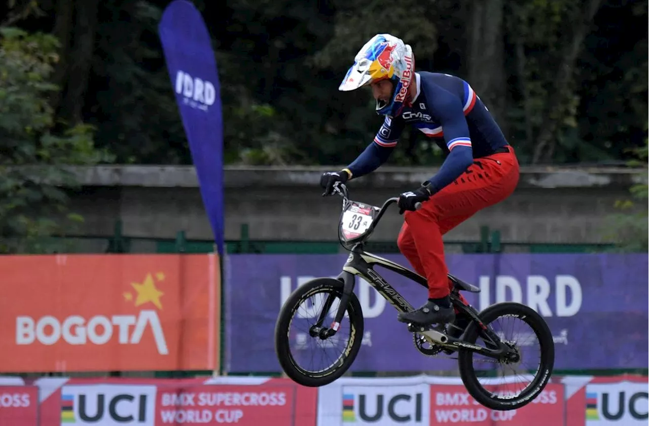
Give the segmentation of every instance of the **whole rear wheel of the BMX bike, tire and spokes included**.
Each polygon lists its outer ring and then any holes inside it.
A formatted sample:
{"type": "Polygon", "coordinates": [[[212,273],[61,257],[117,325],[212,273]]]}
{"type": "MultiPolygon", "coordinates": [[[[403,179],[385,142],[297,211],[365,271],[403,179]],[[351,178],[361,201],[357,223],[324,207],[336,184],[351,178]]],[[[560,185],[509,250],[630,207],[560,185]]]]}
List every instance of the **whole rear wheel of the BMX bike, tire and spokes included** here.
{"type": "MultiPolygon", "coordinates": [[[[554,340],[550,328],[535,310],[520,303],[496,303],[480,312],[480,319],[515,355],[499,361],[461,349],[458,363],[464,386],[478,403],[493,410],[515,410],[527,405],[552,375],[554,340]],[[482,365],[476,367],[474,362],[482,365]]],[[[483,336],[490,342],[478,324],[471,323],[465,342],[476,344],[483,336]]],[[[484,340],[477,344],[489,347],[484,340]]]]}

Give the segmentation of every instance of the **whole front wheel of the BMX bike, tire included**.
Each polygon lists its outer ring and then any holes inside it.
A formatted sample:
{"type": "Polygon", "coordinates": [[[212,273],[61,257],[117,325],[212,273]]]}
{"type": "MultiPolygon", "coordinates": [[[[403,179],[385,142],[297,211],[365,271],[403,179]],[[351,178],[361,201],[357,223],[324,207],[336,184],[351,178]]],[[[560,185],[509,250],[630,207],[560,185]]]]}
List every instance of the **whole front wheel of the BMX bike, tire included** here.
{"type": "Polygon", "coordinates": [[[314,279],[299,286],[280,310],[275,352],[286,375],[303,386],[324,386],[341,377],[361,347],[363,312],[354,293],[336,334],[323,335],[334,321],[343,288],[337,279],[314,279]]]}

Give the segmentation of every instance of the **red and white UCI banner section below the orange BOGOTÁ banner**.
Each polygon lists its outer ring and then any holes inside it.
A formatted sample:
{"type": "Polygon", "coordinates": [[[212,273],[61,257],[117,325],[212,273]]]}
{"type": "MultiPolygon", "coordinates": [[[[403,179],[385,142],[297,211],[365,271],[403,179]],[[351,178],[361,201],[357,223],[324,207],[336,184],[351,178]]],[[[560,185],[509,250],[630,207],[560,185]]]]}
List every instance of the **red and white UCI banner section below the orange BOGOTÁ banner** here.
{"type": "MultiPolygon", "coordinates": [[[[0,408],[0,426],[316,425],[317,388],[288,379],[45,377],[37,382],[38,388],[0,387],[2,395],[18,395],[19,405],[0,408]],[[23,396],[26,390],[28,397],[23,396]],[[23,407],[25,401],[29,409],[23,407]]],[[[0,403],[9,404],[10,397],[4,398],[0,403]]]]}

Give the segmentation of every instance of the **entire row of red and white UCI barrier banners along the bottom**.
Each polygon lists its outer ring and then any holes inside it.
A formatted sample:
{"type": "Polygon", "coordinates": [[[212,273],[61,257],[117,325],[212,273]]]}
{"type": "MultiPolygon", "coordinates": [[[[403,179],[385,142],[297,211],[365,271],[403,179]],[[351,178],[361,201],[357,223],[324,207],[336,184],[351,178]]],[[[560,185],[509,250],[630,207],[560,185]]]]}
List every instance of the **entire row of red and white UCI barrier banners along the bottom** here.
{"type": "Polygon", "coordinates": [[[649,378],[554,377],[519,410],[477,404],[458,378],[0,377],[0,425],[600,426],[646,425],[649,378]]]}

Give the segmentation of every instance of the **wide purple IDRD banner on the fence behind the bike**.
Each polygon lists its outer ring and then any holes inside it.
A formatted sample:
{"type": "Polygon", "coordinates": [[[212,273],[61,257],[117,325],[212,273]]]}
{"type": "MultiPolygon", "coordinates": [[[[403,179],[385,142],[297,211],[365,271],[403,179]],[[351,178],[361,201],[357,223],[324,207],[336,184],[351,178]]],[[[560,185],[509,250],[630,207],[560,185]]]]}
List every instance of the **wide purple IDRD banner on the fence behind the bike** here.
{"type": "MultiPolygon", "coordinates": [[[[386,258],[408,265],[401,255],[386,258]]],[[[273,332],[282,303],[314,277],[336,277],[346,260],[346,255],[228,256],[225,368],[279,371],[273,332]]],[[[502,301],[517,301],[537,310],[554,336],[557,369],[647,366],[649,255],[448,255],[447,262],[452,273],[480,287],[479,294],[465,293],[479,310],[502,301]]],[[[419,284],[380,266],[376,271],[412,305],[425,301],[426,290],[419,284]]],[[[397,321],[397,311],[367,282],[358,280],[355,292],[365,331],[352,371],[457,369],[455,360],[417,352],[412,334],[397,321]]],[[[315,312],[302,316],[310,320],[311,314],[315,312]]],[[[290,338],[295,351],[302,351],[304,357],[310,351],[321,351],[309,344],[302,331],[291,330],[290,338]]]]}

